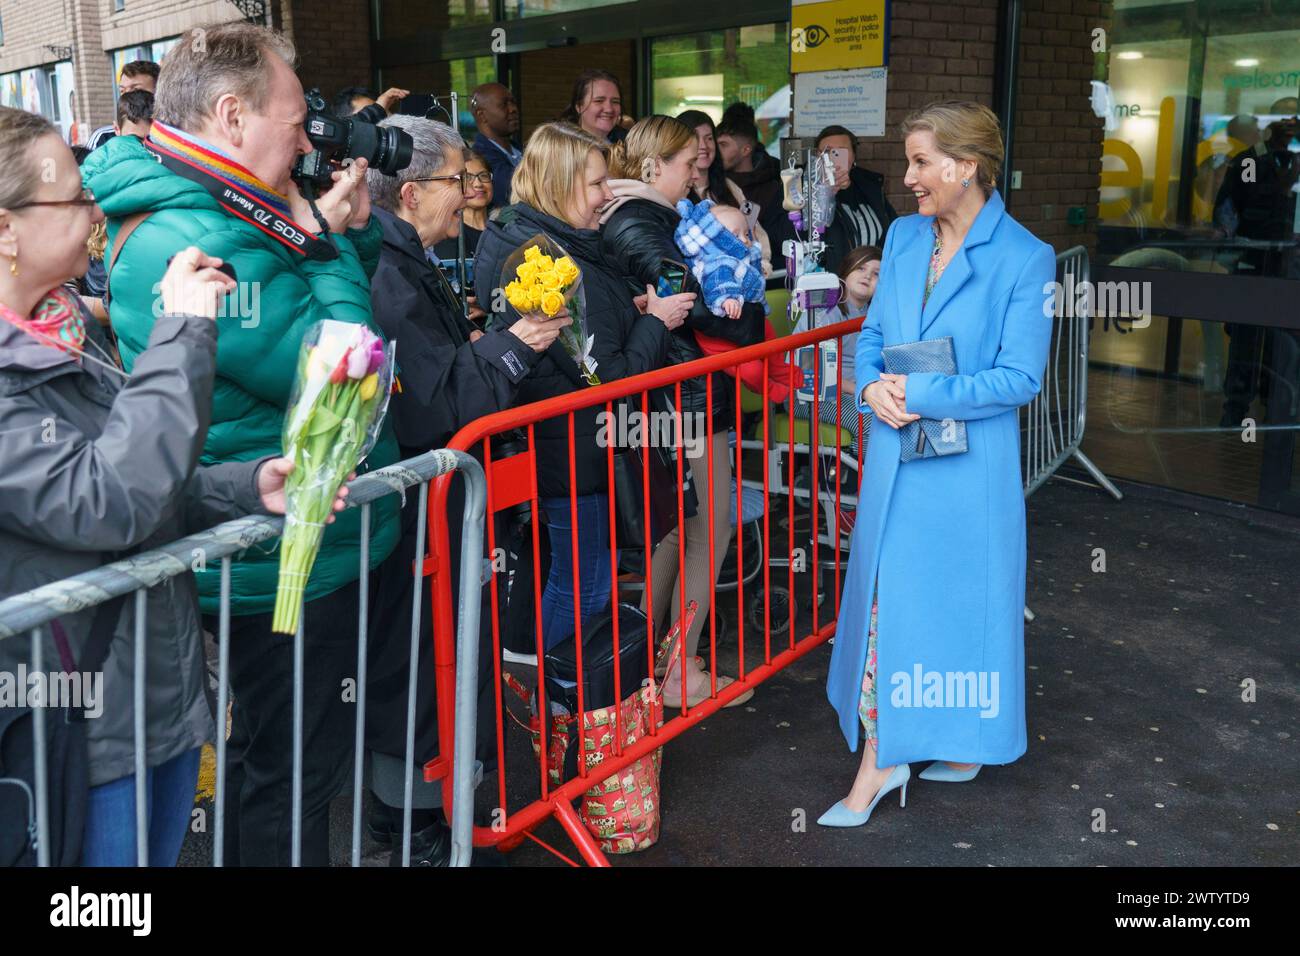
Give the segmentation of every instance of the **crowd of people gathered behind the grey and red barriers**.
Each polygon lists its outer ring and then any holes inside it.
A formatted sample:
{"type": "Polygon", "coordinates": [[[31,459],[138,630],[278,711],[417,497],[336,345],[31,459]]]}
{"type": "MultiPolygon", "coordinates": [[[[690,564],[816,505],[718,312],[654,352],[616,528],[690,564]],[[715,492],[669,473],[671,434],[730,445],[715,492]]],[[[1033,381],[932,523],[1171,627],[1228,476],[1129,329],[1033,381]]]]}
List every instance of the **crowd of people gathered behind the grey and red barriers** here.
{"type": "MultiPolygon", "coordinates": [[[[285,410],[299,345],[321,319],[364,323],[399,343],[400,390],[364,470],[443,446],[482,415],[586,388],[558,343],[572,321],[568,311],[521,315],[498,294],[504,260],[537,234],[556,242],[581,269],[582,315],[602,382],[774,334],[764,280],[784,268],[781,245],[792,226],[780,206],[779,164],[763,150],[753,109],[734,104],[718,125],[699,111],[630,122],[618,79],[588,70],[575,83],[569,108],[533,129],[526,142],[519,139],[511,91],[499,83],[478,87],[469,99],[477,135],[467,144],[446,124],[400,114],[406,90],[372,98],[348,88],[334,100],[338,113],[408,134],[411,163],[387,174],[358,160],[335,172],[332,186],[309,203],[290,172],[312,148],[294,60],[281,34],[247,23],[208,29],[202,53],[182,38],[161,72],[139,65],[124,70],[124,85],[130,79],[133,88],[122,88],[116,135],[81,157],[44,120],[0,109],[0,259],[9,260],[0,268],[0,459],[6,464],[0,477],[0,596],[226,518],[282,511],[285,410]],[[43,178],[39,159],[47,156],[58,174],[43,178]],[[237,215],[220,183],[234,183],[268,217],[309,233],[313,255],[237,215]],[[469,260],[465,273],[462,248],[469,260]],[[688,265],[681,291],[659,285],[666,261],[688,265]],[[234,267],[239,284],[260,290],[255,317],[214,321],[235,285],[222,264],[234,267]],[[31,437],[46,420],[56,423],[57,440],[31,437]]],[[[818,137],[818,148],[837,173],[824,261],[842,280],[842,317],[864,316],[878,284],[883,287],[890,276],[885,235],[894,235],[889,226],[896,213],[883,178],[857,165],[852,131],[829,127],[818,137]]],[[[982,195],[988,194],[985,160],[978,164],[982,195]]],[[[935,194],[941,189],[948,186],[933,186],[935,194]]],[[[893,428],[909,420],[901,385],[862,367],[863,347],[878,345],[879,334],[870,346],[853,337],[844,343],[844,388],[854,401],[844,402],[840,424],[855,444],[867,441],[858,434],[859,411],[893,428]]],[[[673,408],[671,390],[655,397],[670,411],[714,416],[711,449],[701,444],[685,453],[698,506],[658,544],[646,575],[653,575],[654,633],[671,626],[682,593],[699,606],[667,674],[670,708],[710,695],[711,675],[696,652],[710,613],[710,585],[732,533],[734,382],[727,372],[712,377],[711,401],[706,376],[681,382],[680,408],[673,408]],[[708,458],[711,498],[703,480],[708,458]],[[685,538],[681,548],[679,536],[685,538]]],[[[573,632],[576,614],[586,619],[610,604],[608,488],[598,411],[575,412],[572,445],[566,416],[542,421],[534,432],[547,544],[541,567],[514,568],[519,574],[506,606],[519,614],[516,593],[526,592],[529,600],[532,593],[519,584],[537,575],[545,583],[538,617],[547,648],[573,632]],[[571,453],[576,486],[568,477],[571,453]]],[[[810,414],[798,403],[793,411],[810,414]]],[[[993,412],[971,416],[985,414],[993,412]]],[[[829,410],[822,405],[822,416],[835,421],[833,403],[829,410]]],[[[456,494],[446,515],[452,542],[460,540],[456,494]]],[[[346,489],[339,509],[343,496],[346,489]]],[[[398,777],[404,769],[411,666],[420,670],[417,766],[437,749],[430,641],[420,643],[419,661],[407,659],[411,559],[421,546],[416,518],[413,496],[404,506],[395,497],[373,506],[374,574],[364,605],[359,514],[332,518],[306,591],[302,861],[308,865],[328,862],[329,804],[351,779],[356,714],[339,688],[355,676],[363,606],[370,633],[367,744],[376,757],[378,814],[370,825],[377,839],[391,840],[400,831],[400,791],[381,778],[385,766],[398,777]]],[[[872,520],[879,531],[879,515],[872,520]]],[[[1023,541],[1020,548],[1023,559],[1023,541]]],[[[285,865],[291,852],[294,644],[272,631],[277,559],[274,550],[251,548],[230,574],[228,865],[285,865]]],[[[530,559],[529,549],[523,562],[530,559]]],[[[459,576],[459,555],[454,563],[459,576]]],[[[148,597],[148,844],[157,865],[177,861],[199,747],[221,732],[205,700],[203,659],[203,632],[218,630],[218,601],[216,567],[176,578],[148,597]]],[[[424,609],[428,636],[426,601],[424,609]]],[[[81,847],[82,862],[130,864],[134,607],[72,615],[64,631],[75,658],[87,635],[105,627],[95,623],[104,615],[114,635],[105,650],[107,685],[120,706],[86,730],[84,839],[69,832],[68,840],[81,847]]],[[[532,609],[523,617],[530,628],[532,609]]],[[[874,614],[871,620],[874,637],[874,614]]],[[[862,631],[864,640],[864,626],[862,631]]],[[[861,652],[849,665],[858,671],[854,688],[862,684],[866,644],[861,652]]],[[[16,653],[14,641],[0,644],[0,663],[16,653]]],[[[493,667],[482,666],[480,674],[486,717],[480,749],[490,769],[493,667]]],[[[716,683],[725,687],[731,678],[716,683]]],[[[861,786],[854,795],[862,795],[861,786]]],[[[432,799],[417,797],[415,826],[415,855],[445,861],[447,831],[432,799]]]]}

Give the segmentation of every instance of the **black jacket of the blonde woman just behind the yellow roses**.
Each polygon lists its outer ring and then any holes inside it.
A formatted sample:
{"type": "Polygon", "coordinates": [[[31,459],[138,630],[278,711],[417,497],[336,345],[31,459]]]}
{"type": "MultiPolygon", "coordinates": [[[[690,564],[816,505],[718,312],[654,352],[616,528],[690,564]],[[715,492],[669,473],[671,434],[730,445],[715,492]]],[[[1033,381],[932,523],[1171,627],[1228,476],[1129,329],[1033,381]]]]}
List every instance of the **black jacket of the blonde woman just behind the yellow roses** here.
{"type": "MultiPolygon", "coordinates": [[[[490,328],[517,321],[519,313],[504,295],[494,294],[494,290],[504,286],[502,267],[506,259],[538,233],[558,242],[582,271],[582,316],[588,332],[594,336],[592,356],[597,362],[599,380],[610,382],[662,367],[668,332],[658,319],[637,311],[619,272],[601,252],[601,234],[593,229],[575,229],[523,203],[502,209],[478,241],[474,256],[478,302],[500,310],[493,313],[490,328]]],[[[566,395],[585,388],[577,364],[556,341],[520,386],[517,403],[566,395]]],[[[603,492],[607,486],[606,451],[595,442],[597,415],[602,411],[603,406],[573,415],[577,494],[603,492]]],[[[540,423],[534,437],[538,494],[568,496],[568,418],[562,415],[540,423]]]]}

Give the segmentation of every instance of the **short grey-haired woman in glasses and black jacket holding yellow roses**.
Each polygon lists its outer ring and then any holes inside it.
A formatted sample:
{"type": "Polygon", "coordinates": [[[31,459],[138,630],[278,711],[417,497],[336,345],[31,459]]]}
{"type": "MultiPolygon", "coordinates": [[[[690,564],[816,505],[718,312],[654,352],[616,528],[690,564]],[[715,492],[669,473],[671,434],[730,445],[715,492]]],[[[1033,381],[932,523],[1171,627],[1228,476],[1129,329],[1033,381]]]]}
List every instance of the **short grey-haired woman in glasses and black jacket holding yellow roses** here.
{"type": "MultiPolygon", "coordinates": [[[[411,165],[396,176],[385,176],[370,168],[373,215],[384,226],[384,248],[380,265],[370,280],[370,304],[374,320],[386,338],[398,343],[402,390],[389,405],[402,457],[410,458],[429,449],[442,447],[452,434],[477,418],[515,403],[519,384],[537,365],[542,352],[571,320],[562,313],[547,321],[520,319],[510,326],[482,333],[472,330],[460,303],[441,269],[433,265],[425,250],[443,239],[455,238],[462,228],[460,211],[465,207],[467,174],[465,143],[450,126],[413,116],[393,116],[384,126],[398,126],[411,134],[411,165]]],[[[452,485],[447,503],[448,540],[460,540],[462,485],[452,485]]],[[[413,581],[411,555],[416,540],[416,502],[412,498],[403,512],[402,541],[389,562],[381,567],[378,593],[372,604],[369,688],[370,708],[367,717],[367,739],[374,752],[376,795],[385,808],[372,816],[370,831],[377,839],[400,830],[406,754],[406,695],[408,682],[408,644],[413,581]],[[385,757],[387,754],[387,757],[385,757]],[[395,762],[395,765],[394,765],[395,762]],[[398,784],[387,790],[391,779],[398,784]],[[384,817],[390,823],[386,826],[384,817]]],[[[441,516],[439,516],[441,518],[441,516]]],[[[459,579],[459,549],[452,549],[452,578],[459,579]]],[[[455,584],[452,585],[456,587],[455,584]]],[[[456,593],[455,591],[452,593],[456,593]]],[[[420,700],[416,706],[416,760],[422,765],[437,748],[433,691],[432,615],[424,602],[417,663],[420,700]]],[[[489,615],[482,617],[484,622],[489,615]]],[[[489,641],[490,644],[490,641],[489,641]]],[[[490,682],[493,667],[480,667],[490,682]]],[[[480,734],[491,739],[494,702],[489,695],[478,713],[485,718],[480,734]]],[[[450,848],[446,829],[429,808],[415,812],[412,858],[441,862],[450,848]]],[[[390,836],[391,839],[391,836],[390,836]]],[[[398,852],[396,849],[394,851],[398,852]]]]}

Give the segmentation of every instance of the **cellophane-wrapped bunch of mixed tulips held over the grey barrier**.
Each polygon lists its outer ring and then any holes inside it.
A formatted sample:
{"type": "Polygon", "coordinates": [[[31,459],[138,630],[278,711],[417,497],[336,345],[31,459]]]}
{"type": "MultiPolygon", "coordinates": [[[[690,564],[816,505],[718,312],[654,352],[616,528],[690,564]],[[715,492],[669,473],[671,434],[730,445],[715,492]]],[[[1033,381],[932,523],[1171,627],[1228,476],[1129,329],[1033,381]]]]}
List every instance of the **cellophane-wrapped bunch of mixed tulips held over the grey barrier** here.
{"type": "Polygon", "coordinates": [[[272,631],[294,633],[303,591],[320,550],[334,496],[365,459],[384,421],[396,343],[365,325],[333,319],[303,338],[298,377],[285,414],[285,533],[272,631]]]}

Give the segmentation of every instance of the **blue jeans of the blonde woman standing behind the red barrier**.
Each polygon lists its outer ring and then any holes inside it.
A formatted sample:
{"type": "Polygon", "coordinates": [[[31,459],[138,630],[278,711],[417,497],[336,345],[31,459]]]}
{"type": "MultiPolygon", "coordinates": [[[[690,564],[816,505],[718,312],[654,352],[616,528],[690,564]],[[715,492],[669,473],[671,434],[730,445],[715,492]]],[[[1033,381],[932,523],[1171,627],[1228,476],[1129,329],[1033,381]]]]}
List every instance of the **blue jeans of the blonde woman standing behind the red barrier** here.
{"type": "MultiPolygon", "coordinates": [[[[551,538],[551,572],[542,591],[542,641],[546,649],[573,633],[573,541],[568,498],[542,498],[551,538]]],[[[610,502],[603,494],[577,496],[578,587],[582,622],[604,610],[610,581],[610,502]]]]}

